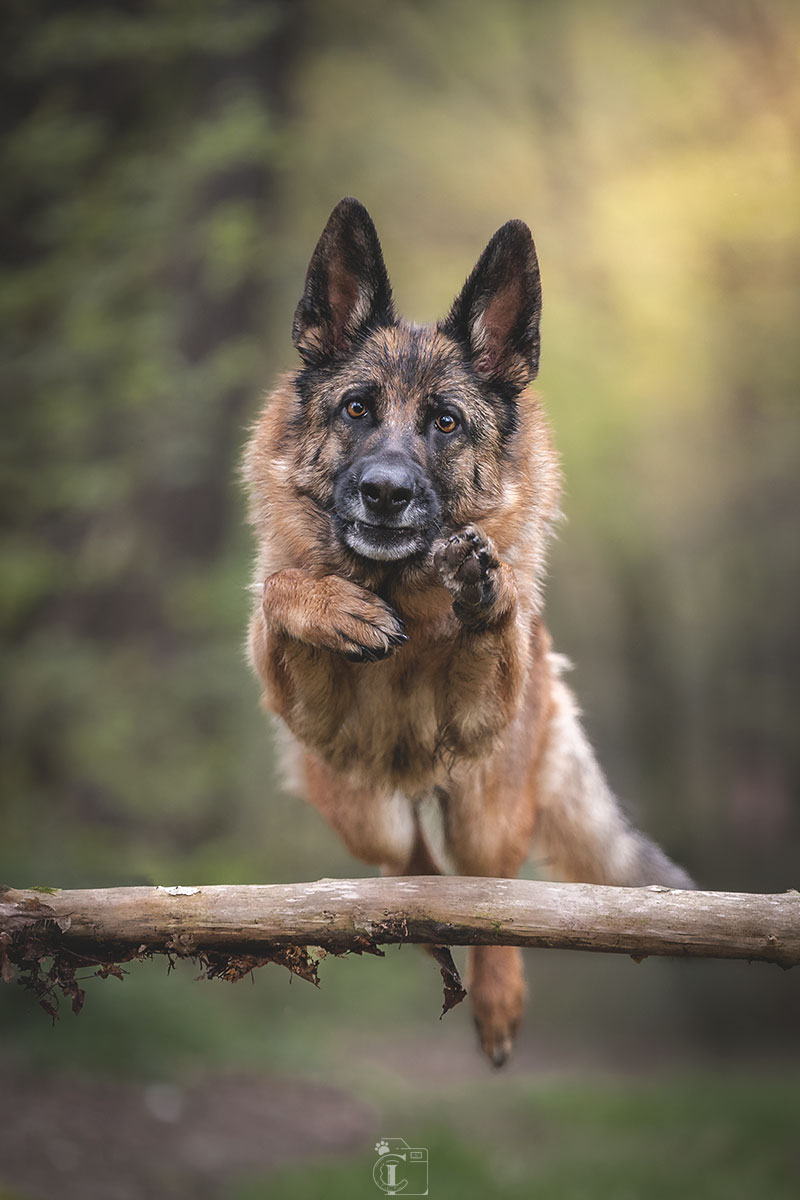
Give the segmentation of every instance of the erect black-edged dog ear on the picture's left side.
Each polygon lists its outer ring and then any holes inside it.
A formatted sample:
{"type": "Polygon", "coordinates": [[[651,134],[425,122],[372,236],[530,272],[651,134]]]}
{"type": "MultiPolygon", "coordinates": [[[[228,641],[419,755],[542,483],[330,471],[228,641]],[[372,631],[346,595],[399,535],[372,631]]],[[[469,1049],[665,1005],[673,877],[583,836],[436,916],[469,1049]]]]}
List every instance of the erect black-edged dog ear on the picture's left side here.
{"type": "Polygon", "coordinates": [[[347,354],[363,334],[395,323],[392,289],[372,217],[339,200],[317,242],[291,341],[305,362],[347,354]]]}

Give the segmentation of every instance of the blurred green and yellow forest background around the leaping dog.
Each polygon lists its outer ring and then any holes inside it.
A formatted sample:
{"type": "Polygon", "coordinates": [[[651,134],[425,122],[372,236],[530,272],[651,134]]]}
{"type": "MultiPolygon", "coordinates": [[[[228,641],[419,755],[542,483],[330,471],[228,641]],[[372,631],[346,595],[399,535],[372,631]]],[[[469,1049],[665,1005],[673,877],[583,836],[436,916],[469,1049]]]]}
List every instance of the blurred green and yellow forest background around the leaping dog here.
{"type": "MultiPolygon", "coordinates": [[[[294,362],[315,239],[354,194],[417,320],[446,311],[505,220],[534,229],[539,386],[566,476],[548,622],[591,737],[702,884],[800,886],[796,4],[8,0],[4,14],[0,880],[362,874],[273,772],[242,653],[236,476],[260,395],[294,362]]],[[[0,1075],[31,1111],[53,1072],[73,1097],[76,1080],[132,1080],[187,1136],[186,1088],[215,1072],[344,1087],[365,1106],[354,1174],[297,1168],[284,1183],[300,1196],[378,1194],[375,1135],[415,1130],[438,1147],[432,1170],[449,1163],[440,1196],[522,1196],[531,1180],[542,1196],[657,1196],[656,1178],[663,1195],[795,1194],[788,1085],[720,1082],[735,1063],[796,1062],[793,977],[557,954],[529,955],[529,972],[505,1079],[471,1057],[465,1012],[438,1024],[438,977],[409,950],[325,964],[319,994],[277,968],[233,988],[137,967],[90,984],[55,1028],[2,988],[0,1075]],[[704,1082],[594,1081],[591,1110],[541,1084],[654,1062],[699,1063],[704,1082]]],[[[122,1093],[91,1094],[55,1123],[92,1103],[101,1121],[122,1093]]],[[[326,1120],[276,1145],[347,1148],[326,1120]]],[[[222,1182],[246,1154],[219,1150],[207,1193],[194,1177],[181,1190],[186,1163],[175,1190],[145,1188],[140,1163],[96,1178],[97,1152],[91,1174],[84,1126],[53,1144],[20,1129],[5,1160],[0,1146],[0,1196],[50,1195],[53,1177],[68,1200],[76,1171],[82,1198],[265,1194],[222,1182]]]]}

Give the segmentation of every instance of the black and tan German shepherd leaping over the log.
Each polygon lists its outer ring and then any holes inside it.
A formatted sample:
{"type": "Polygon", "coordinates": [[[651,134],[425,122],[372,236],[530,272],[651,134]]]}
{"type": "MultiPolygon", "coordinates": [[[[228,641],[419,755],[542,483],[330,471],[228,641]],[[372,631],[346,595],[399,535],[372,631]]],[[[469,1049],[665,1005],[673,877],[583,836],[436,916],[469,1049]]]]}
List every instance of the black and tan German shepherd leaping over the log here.
{"type": "MultiPolygon", "coordinates": [[[[692,887],[622,814],[542,620],[559,467],[537,397],[541,287],[528,226],[494,234],[449,316],[395,313],[366,209],[333,209],[245,457],[258,541],[249,655],[305,794],[353,854],[513,877],[692,887]]],[[[519,950],[474,947],[481,1046],[505,1062],[519,950]]]]}

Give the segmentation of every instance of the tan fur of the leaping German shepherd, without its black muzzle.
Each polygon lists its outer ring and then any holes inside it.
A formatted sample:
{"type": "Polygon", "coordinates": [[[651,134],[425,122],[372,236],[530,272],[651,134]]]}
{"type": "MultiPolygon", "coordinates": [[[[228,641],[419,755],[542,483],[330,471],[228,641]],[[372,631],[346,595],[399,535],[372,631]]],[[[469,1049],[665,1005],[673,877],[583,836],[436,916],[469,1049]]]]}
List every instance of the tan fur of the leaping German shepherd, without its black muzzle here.
{"type": "MultiPolygon", "coordinates": [[[[512,281],[486,308],[498,344],[519,294],[512,281]]],[[[347,295],[338,276],[333,295],[347,295]]],[[[319,336],[303,332],[307,343],[319,336]]],[[[486,325],[481,337],[494,355],[486,325]]],[[[245,461],[258,542],[249,655],[264,706],[295,738],[311,803],[353,854],[391,874],[437,870],[419,818],[433,796],[459,874],[512,877],[535,838],[569,878],[688,886],[620,812],[551,652],[542,583],[559,469],[536,395],[519,395],[504,444],[455,342],[404,323],[371,331],[314,388],[308,404],[299,377],[279,382],[245,461]],[[325,406],[365,379],[380,389],[390,442],[413,438],[427,397],[443,390],[483,431],[441,473],[447,526],[432,553],[399,571],[348,553],[332,527],[348,434],[326,424],[325,406]],[[470,532],[497,564],[489,600],[473,610],[453,607],[458,570],[447,559],[449,539],[470,532]],[[349,661],[357,646],[390,656],[349,661]]],[[[481,1044],[499,1063],[522,1015],[518,950],[474,949],[469,979],[481,1044]]]]}

